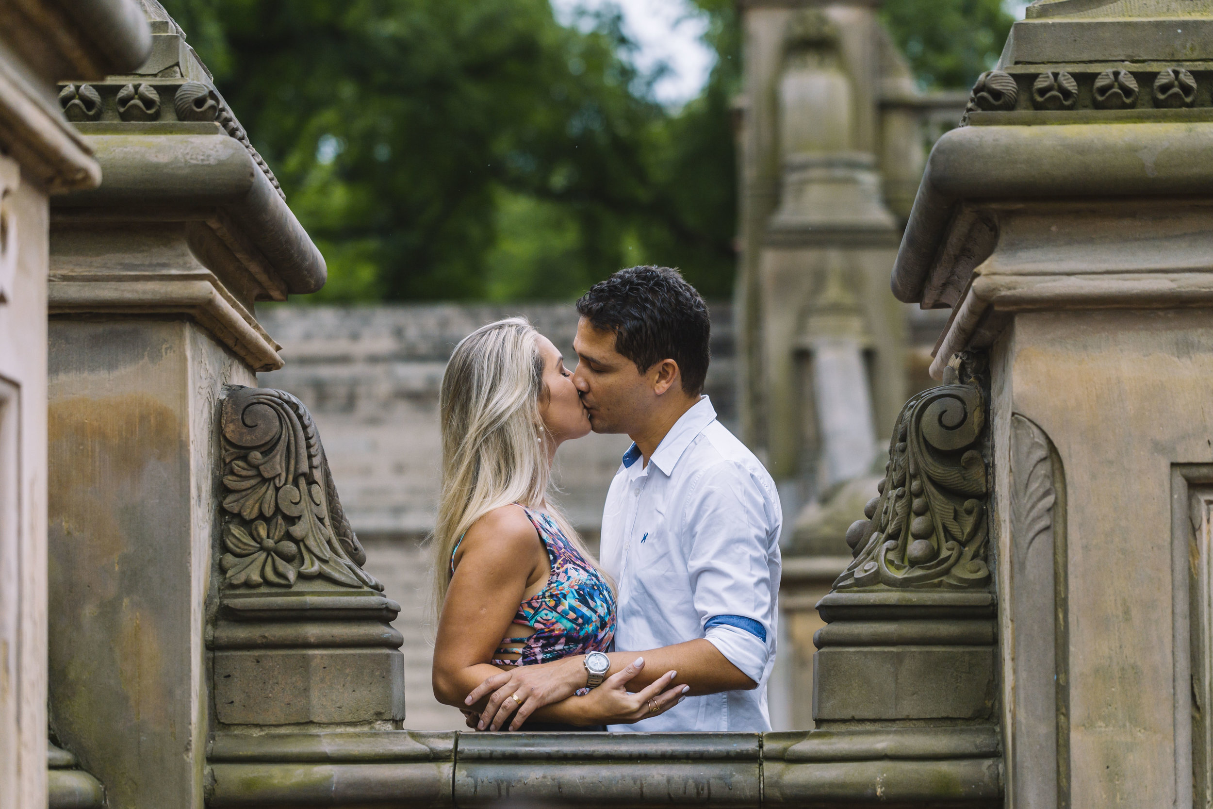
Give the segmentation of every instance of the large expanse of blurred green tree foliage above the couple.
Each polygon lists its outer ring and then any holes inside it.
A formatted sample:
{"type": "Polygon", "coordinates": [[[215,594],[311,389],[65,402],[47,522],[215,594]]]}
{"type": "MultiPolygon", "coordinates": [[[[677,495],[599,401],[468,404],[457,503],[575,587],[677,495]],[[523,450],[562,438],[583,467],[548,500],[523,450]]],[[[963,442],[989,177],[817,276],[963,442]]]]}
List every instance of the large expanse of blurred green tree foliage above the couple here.
{"type": "Polygon", "coordinates": [[[617,16],[548,0],[166,0],[324,251],[329,300],[566,298],[733,270],[723,89],[671,115],[617,16]],[[588,30],[586,30],[588,28],[588,30]],[[707,161],[707,165],[705,165],[707,161]]]}

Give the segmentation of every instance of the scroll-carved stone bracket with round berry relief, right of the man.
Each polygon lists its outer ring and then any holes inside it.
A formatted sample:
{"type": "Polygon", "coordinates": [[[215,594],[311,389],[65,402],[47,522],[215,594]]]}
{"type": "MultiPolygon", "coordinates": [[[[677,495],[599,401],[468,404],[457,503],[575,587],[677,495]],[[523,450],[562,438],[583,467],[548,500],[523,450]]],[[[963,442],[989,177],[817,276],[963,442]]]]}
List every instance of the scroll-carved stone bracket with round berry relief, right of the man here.
{"type": "Polygon", "coordinates": [[[912,723],[946,739],[997,722],[986,393],[969,366],[964,383],[949,372],[902,409],[847,535],[855,558],[818,604],[819,728],[912,723]]]}

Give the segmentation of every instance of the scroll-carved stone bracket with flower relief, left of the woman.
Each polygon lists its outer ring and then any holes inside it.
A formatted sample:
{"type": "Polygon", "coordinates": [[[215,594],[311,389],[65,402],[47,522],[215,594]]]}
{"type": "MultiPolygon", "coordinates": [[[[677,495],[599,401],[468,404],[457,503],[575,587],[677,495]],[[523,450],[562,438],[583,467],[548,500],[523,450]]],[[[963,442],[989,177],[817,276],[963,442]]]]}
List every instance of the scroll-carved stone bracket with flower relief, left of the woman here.
{"type": "Polygon", "coordinates": [[[361,569],[315,423],[289,393],[223,400],[216,730],[399,728],[400,605],[361,569]]]}

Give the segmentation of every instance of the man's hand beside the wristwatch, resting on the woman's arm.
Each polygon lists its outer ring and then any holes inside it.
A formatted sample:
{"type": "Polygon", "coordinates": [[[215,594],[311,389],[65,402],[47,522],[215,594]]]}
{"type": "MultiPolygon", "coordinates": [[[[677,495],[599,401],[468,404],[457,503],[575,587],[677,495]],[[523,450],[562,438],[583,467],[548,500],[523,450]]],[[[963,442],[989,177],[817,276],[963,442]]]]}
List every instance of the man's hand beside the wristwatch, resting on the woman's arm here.
{"type": "Polygon", "coordinates": [[[577,655],[549,663],[516,666],[512,671],[494,674],[484,680],[463,700],[465,705],[471,706],[492,693],[489,703],[480,712],[477,730],[497,730],[511,713],[518,711],[509,728],[517,730],[526,717],[545,705],[573,696],[579,688],[586,685],[586,667],[582,660],[583,656],[577,655]]]}

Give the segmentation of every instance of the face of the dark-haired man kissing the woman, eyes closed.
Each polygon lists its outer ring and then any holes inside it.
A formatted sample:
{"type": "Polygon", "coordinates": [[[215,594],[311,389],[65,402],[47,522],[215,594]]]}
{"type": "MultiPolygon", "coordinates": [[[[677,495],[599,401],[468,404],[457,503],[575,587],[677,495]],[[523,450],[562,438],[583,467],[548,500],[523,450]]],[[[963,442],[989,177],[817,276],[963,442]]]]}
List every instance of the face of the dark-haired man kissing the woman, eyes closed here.
{"type": "Polygon", "coordinates": [[[648,375],[615,351],[615,332],[594,329],[585,318],[577,323],[573,349],[577,352],[573,383],[581,392],[593,431],[636,432],[655,398],[648,375]]]}

